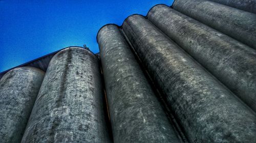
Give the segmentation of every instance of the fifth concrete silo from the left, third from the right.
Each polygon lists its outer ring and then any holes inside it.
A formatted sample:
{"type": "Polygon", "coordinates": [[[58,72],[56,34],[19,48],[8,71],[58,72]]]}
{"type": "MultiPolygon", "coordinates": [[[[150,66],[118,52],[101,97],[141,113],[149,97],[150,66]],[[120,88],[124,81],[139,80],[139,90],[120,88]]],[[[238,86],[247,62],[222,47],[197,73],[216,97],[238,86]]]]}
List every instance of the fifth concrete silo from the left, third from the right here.
{"type": "Polygon", "coordinates": [[[165,5],[147,17],[256,111],[256,50],[165,5]]]}

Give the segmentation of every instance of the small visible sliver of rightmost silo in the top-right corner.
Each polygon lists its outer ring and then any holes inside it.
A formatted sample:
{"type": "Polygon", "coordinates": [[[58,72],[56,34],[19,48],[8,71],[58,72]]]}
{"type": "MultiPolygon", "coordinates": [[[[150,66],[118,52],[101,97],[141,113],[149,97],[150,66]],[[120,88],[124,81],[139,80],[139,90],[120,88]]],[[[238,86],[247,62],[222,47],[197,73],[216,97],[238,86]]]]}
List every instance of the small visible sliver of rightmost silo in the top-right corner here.
{"type": "Polygon", "coordinates": [[[256,0],[209,0],[229,7],[256,13],[256,0]]]}

